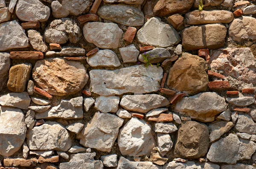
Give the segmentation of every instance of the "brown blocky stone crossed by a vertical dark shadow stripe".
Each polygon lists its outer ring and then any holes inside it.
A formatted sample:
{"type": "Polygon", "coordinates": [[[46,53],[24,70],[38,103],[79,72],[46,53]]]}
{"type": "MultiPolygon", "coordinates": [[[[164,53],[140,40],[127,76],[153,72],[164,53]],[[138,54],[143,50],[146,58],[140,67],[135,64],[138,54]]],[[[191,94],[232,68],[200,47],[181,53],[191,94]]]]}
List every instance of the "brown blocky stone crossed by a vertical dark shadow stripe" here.
{"type": "Polygon", "coordinates": [[[227,28],[220,24],[191,26],[183,29],[182,46],[187,51],[216,49],[224,46],[227,28]]]}

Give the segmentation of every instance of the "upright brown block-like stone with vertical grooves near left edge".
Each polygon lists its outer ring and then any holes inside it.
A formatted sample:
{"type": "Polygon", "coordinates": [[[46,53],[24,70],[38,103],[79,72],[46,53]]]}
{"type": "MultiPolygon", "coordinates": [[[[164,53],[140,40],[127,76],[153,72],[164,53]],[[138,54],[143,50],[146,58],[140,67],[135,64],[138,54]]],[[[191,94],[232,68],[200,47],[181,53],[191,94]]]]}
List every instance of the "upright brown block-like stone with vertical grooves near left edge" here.
{"type": "Polygon", "coordinates": [[[26,89],[26,84],[29,81],[32,65],[23,63],[12,66],[9,71],[9,80],[7,87],[13,92],[23,92],[26,89]]]}

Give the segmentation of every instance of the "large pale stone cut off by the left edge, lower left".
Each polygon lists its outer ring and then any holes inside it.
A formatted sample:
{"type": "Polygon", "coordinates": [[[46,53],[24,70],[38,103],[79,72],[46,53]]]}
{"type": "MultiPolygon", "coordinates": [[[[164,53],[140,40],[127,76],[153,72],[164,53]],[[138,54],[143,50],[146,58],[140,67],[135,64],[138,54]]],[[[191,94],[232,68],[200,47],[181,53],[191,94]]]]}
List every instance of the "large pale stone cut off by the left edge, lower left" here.
{"type": "Polygon", "coordinates": [[[0,124],[0,155],[13,155],[26,138],[24,114],[18,108],[0,106],[0,124]]]}

